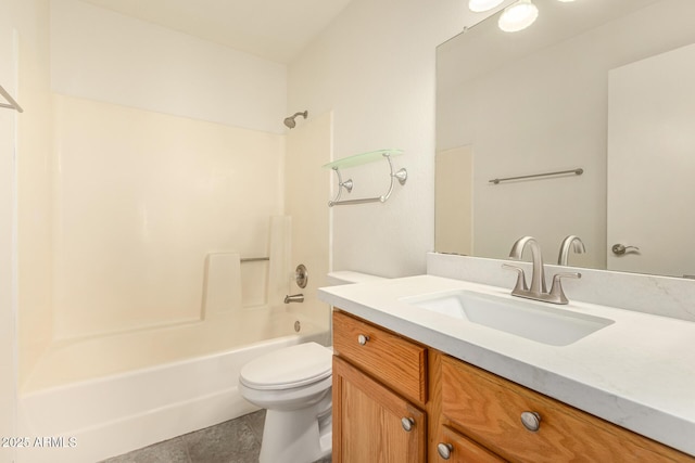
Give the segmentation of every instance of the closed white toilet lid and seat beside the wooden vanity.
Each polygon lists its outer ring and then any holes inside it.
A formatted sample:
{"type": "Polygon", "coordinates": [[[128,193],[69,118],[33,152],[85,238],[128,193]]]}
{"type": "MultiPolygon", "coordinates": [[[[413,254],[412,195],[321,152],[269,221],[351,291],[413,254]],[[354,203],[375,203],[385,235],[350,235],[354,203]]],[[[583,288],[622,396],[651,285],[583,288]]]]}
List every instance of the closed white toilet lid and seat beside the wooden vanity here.
{"type": "Polygon", "coordinates": [[[332,351],[319,344],[298,344],[250,361],[239,381],[254,389],[300,387],[330,376],[331,360],[332,351]]]}

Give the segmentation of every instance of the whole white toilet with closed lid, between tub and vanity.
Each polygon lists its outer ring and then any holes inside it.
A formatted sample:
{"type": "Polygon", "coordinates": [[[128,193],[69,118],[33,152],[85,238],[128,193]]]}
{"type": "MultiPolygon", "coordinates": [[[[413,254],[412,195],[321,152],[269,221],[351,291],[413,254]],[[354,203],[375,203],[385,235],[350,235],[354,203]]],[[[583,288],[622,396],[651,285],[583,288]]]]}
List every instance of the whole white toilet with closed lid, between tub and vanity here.
{"type": "MultiPolygon", "coordinates": [[[[377,279],[352,271],[328,274],[331,285],[377,279]]],[[[241,396],[267,410],[260,463],[311,463],[330,455],[332,355],[330,347],[304,343],[265,353],[241,368],[241,396]]]]}

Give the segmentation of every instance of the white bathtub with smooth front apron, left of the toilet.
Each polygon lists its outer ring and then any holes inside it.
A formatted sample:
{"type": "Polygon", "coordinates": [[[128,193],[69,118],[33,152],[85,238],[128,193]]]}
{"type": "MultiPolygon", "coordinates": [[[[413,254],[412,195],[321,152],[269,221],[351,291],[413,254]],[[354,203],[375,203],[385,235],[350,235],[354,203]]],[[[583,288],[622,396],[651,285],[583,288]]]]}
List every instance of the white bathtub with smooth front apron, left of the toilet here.
{"type": "MultiPolygon", "coordinates": [[[[244,363],[279,347],[308,340],[324,345],[329,342],[326,325],[319,326],[296,314],[274,314],[270,324],[275,337],[268,340],[23,394],[20,434],[31,448],[18,452],[17,463],[98,462],[256,410],[237,389],[244,363]],[[298,319],[301,332],[294,333],[298,319]],[[37,447],[38,443],[49,447],[37,447]]],[[[165,345],[177,336],[191,343],[190,333],[174,333],[169,331],[165,345]]],[[[205,340],[210,343],[208,338],[201,338],[200,343],[205,340]]],[[[96,339],[65,346],[53,360],[66,362],[72,358],[78,362],[80,355],[92,350],[93,357],[93,349],[108,342],[96,339]]],[[[123,339],[121,343],[125,345],[123,339]]],[[[128,348],[156,353],[156,349],[148,349],[151,345],[151,333],[139,333],[128,342],[128,348]],[[137,339],[148,339],[149,344],[132,346],[137,339]]],[[[101,348],[105,352],[113,349],[101,348]]],[[[51,358],[46,362],[51,362],[51,358]]]]}

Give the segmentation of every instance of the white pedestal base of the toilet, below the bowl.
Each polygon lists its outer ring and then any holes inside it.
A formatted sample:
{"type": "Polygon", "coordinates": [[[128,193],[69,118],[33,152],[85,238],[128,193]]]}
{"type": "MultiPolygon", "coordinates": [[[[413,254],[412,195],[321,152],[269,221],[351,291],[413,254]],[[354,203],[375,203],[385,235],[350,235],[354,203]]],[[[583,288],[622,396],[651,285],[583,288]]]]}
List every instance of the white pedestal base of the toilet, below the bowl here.
{"type": "Polygon", "coordinates": [[[318,403],[294,411],[267,410],[258,463],[312,463],[332,447],[330,389],[318,403]]]}

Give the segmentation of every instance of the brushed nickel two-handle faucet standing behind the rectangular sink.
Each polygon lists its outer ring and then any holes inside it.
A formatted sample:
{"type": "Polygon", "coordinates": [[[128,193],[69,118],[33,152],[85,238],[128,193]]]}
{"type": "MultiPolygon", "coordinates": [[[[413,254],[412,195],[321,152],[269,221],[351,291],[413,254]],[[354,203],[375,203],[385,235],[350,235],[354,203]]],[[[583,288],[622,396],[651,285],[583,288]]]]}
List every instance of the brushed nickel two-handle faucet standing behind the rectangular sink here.
{"type": "Polygon", "coordinates": [[[531,259],[532,259],[532,273],[531,273],[531,287],[529,288],[526,284],[526,274],[523,273],[523,269],[520,267],[511,266],[509,263],[503,263],[502,267],[505,269],[515,270],[518,273],[517,283],[511,290],[513,296],[526,297],[527,299],[535,299],[542,300],[544,303],[552,304],[567,304],[567,296],[565,296],[565,292],[563,291],[563,284],[560,283],[560,279],[563,278],[582,278],[581,273],[576,272],[564,272],[556,273],[553,276],[553,285],[551,286],[551,292],[548,293],[545,286],[545,269],[543,266],[543,256],[541,255],[541,246],[538,241],[533,236],[522,236],[514,243],[511,246],[511,250],[509,252],[509,257],[516,260],[521,259],[521,255],[523,254],[523,249],[526,246],[531,247],[531,259]]]}

